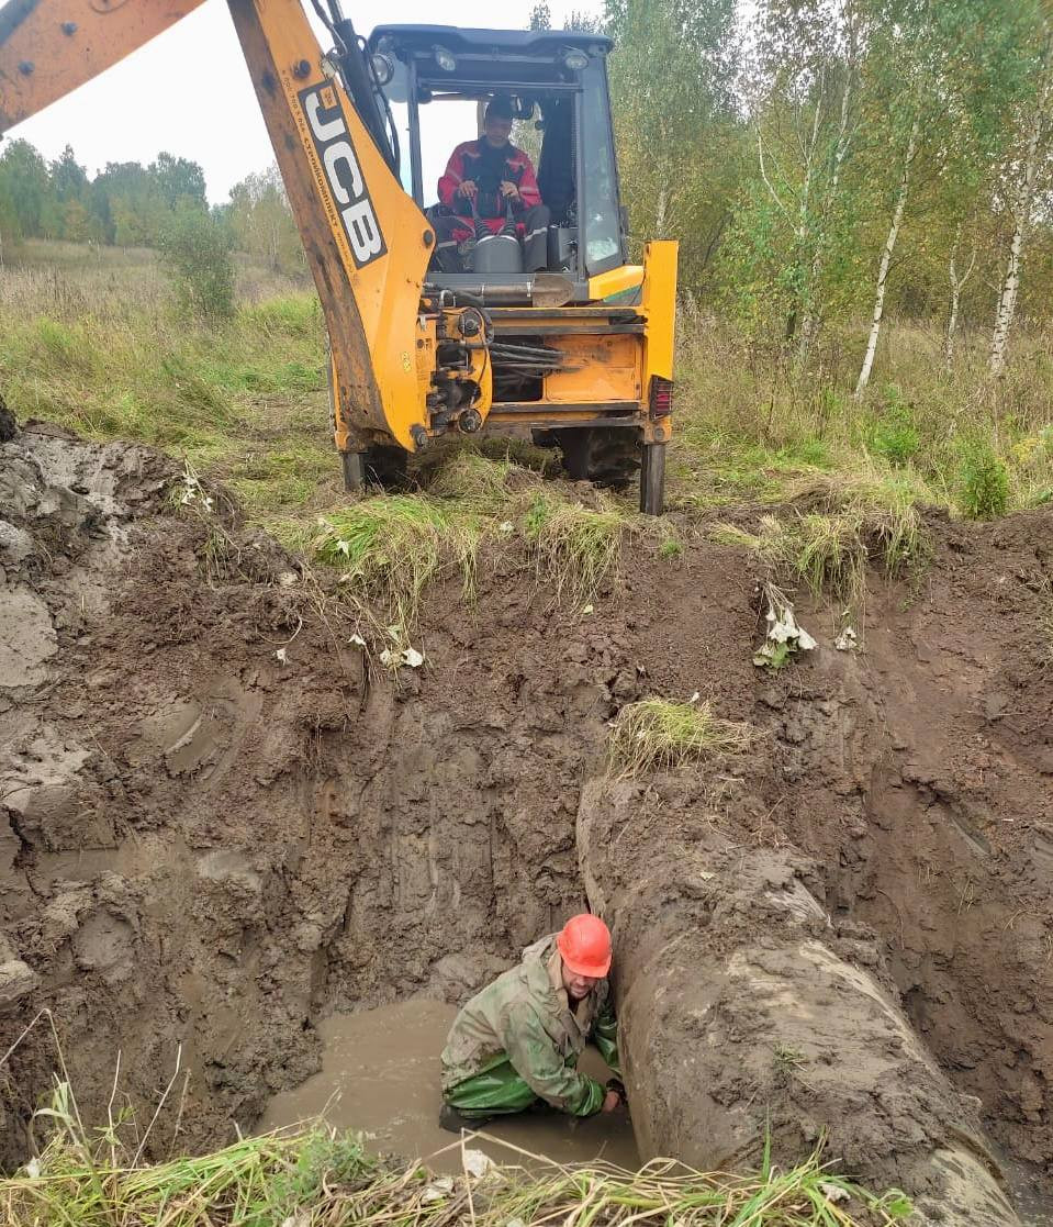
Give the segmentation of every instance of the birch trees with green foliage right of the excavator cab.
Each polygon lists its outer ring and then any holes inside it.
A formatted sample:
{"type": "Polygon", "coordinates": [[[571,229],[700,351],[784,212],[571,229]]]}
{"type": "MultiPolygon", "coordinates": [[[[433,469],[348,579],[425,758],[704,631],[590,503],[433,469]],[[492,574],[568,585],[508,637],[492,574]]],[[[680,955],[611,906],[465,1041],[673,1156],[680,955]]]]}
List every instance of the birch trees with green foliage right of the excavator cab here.
{"type": "Polygon", "coordinates": [[[1046,21],[1043,0],[756,0],[738,20],[608,0],[634,234],[679,239],[682,285],[799,369],[824,329],[870,319],[876,341],[889,313],[946,324],[952,353],[1010,275],[1017,313],[1048,318],[1046,21]]]}

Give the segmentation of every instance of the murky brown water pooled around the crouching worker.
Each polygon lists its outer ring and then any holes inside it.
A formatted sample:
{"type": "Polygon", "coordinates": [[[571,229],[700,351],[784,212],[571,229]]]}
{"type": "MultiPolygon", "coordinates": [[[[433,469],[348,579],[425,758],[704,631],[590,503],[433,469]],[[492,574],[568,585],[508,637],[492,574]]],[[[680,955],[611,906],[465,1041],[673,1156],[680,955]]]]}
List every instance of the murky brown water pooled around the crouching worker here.
{"type": "MultiPolygon", "coordinates": [[[[418,998],[326,1018],[319,1027],[321,1070],[295,1090],[276,1094],[260,1130],[324,1115],[340,1129],[363,1131],[373,1150],[425,1158],[440,1172],[460,1171],[456,1135],[441,1130],[436,1119],[439,1054],[455,1015],[452,1006],[418,998]]],[[[581,1067],[598,1079],[608,1076],[592,1049],[586,1050],[581,1067]]],[[[483,1139],[472,1146],[504,1163],[528,1163],[509,1148],[515,1146],[560,1163],[603,1158],[637,1166],[636,1141],[624,1112],[586,1120],[561,1113],[530,1114],[492,1121],[487,1133],[509,1146],[483,1139]]]]}

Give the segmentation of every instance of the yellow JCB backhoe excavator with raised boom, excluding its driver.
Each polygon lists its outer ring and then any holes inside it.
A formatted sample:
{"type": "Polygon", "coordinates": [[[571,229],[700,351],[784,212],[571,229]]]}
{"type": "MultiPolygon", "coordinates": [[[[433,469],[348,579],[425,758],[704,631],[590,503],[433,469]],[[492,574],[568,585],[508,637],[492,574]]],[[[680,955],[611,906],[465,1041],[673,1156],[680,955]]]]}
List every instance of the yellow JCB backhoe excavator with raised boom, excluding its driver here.
{"type": "MultiPolygon", "coordinates": [[[[202,0],[7,0],[0,133],[115,64],[202,0]]],[[[228,0],[329,331],[348,488],[449,432],[531,431],[576,479],[660,514],[672,429],[677,245],[628,263],[599,34],[381,26],[338,0],[228,0]],[[537,157],[548,269],[506,256],[440,271],[435,152],[500,96],[537,157]],[[477,269],[478,264],[478,269],[477,269]]],[[[200,88],[200,86],[199,86],[200,88]]],[[[222,97],[217,97],[217,118],[222,97]]],[[[479,244],[482,248],[484,244],[479,244]]]]}

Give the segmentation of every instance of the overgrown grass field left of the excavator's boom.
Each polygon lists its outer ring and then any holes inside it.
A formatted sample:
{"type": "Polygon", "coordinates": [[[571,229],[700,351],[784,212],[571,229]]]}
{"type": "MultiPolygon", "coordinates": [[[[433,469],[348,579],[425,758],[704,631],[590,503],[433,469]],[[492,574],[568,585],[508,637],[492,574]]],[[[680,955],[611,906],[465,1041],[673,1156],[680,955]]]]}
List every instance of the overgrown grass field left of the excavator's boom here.
{"type": "Polygon", "coordinates": [[[135,439],[227,481],[278,530],[335,506],[321,309],[241,261],[228,325],[177,313],[154,254],[26,243],[0,277],[0,394],[20,420],[135,439]]]}

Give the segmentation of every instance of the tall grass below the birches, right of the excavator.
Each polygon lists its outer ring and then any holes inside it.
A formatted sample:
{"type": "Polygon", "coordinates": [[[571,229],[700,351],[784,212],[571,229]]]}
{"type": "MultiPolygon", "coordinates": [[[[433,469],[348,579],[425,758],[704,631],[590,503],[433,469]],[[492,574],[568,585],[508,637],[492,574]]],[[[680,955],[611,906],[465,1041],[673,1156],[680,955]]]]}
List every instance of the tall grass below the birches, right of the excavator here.
{"type": "Polygon", "coordinates": [[[973,514],[962,438],[982,440],[1004,467],[1004,510],[1037,506],[1053,491],[1053,371],[1041,331],[1017,333],[1006,378],[992,384],[986,336],[964,337],[946,372],[938,325],[891,321],[862,401],[852,396],[861,330],[827,329],[804,375],[786,355],[690,302],[678,336],[669,467],[679,506],[780,503],[802,472],[876,463],[910,466],[941,501],[954,496],[956,510],[973,514]]]}

